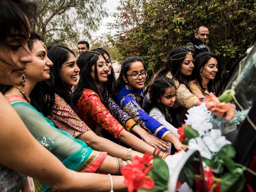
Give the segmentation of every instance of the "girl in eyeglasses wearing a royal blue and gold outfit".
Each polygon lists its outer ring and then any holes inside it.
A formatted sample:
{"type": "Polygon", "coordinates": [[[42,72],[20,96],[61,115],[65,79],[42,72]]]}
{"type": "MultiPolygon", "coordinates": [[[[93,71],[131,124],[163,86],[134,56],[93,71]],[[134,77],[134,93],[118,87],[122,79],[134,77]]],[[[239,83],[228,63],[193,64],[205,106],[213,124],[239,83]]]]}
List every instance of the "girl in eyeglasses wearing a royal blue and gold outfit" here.
{"type": "Polygon", "coordinates": [[[177,136],[142,110],[146,76],[145,63],[141,57],[126,58],[122,63],[120,76],[114,90],[116,103],[144,129],[151,131],[158,138],[174,144],[177,150],[186,149],[177,136]]]}

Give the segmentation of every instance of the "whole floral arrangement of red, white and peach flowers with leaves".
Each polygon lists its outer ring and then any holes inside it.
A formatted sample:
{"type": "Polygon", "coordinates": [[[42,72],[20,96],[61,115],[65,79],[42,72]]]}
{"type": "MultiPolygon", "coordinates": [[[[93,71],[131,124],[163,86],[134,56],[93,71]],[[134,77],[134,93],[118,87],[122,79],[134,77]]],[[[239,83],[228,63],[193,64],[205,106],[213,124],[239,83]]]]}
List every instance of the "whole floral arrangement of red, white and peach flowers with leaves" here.
{"type": "MultiPolygon", "coordinates": [[[[222,131],[216,128],[216,124],[237,125],[244,120],[248,110],[238,112],[236,106],[229,103],[234,94],[232,90],[224,92],[220,98],[212,93],[206,93],[208,95],[204,103],[190,108],[186,114],[186,124],[178,128],[180,141],[188,145],[189,150],[200,152],[208,192],[239,192],[244,186],[244,170],[248,169],[234,162],[236,151],[231,142],[222,136],[222,131]]],[[[122,173],[128,191],[167,191],[168,178],[172,176],[173,170],[185,153],[186,151],[180,151],[168,156],[165,163],[159,157],[154,157],[153,166],[150,164],[153,157],[149,154],[145,154],[143,158],[134,158],[133,164],[126,166],[122,173]]],[[[192,185],[191,181],[197,180],[196,190],[202,191],[202,176],[189,169],[191,166],[182,169],[186,170],[186,182],[192,185]]],[[[181,183],[178,181],[177,191],[180,186],[181,183]]]]}

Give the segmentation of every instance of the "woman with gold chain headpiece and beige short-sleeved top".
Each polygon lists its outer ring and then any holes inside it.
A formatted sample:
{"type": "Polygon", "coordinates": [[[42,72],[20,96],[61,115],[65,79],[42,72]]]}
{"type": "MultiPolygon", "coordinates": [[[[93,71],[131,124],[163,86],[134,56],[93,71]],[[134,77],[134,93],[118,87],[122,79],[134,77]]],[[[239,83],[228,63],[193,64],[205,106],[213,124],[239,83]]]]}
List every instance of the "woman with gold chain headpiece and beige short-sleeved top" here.
{"type": "MultiPolygon", "coordinates": [[[[166,76],[174,80],[176,86],[176,101],[174,103],[174,111],[172,111],[172,116],[174,120],[174,126],[176,128],[182,126],[184,124],[184,120],[186,118],[186,110],[193,107],[198,106],[202,102],[194,96],[189,89],[189,77],[192,74],[194,68],[192,53],[186,48],[176,47],[170,53],[168,60],[164,67],[160,69],[156,76],[151,80],[152,82],[162,76],[166,76]]],[[[148,90],[150,89],[150,85],[146,90],[147,100],[150,101],[148,97],[148,90]]],[[[146,97],[145,97],[146,98],[146,97]]],[[[147,103],[148,103],[147,102],[147,103]]],[[[144,105],[144,108],[147,108],[147,105],[144,105]]]]}

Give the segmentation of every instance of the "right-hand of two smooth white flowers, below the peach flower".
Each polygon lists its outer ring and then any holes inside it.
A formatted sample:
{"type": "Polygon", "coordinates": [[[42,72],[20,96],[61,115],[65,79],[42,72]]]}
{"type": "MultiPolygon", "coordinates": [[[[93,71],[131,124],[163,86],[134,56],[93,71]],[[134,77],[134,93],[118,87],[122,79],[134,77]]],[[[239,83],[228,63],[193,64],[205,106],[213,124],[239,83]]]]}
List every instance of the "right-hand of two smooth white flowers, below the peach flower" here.
{"type": "Polygon", "coordinates": [[[221,135],[221,130],[219,129],[212,129],[204,136],[203,141],[211,152],[218,152],[224,145],[231,144],[230,141],[226,140],[225,136],[221,135]]]}

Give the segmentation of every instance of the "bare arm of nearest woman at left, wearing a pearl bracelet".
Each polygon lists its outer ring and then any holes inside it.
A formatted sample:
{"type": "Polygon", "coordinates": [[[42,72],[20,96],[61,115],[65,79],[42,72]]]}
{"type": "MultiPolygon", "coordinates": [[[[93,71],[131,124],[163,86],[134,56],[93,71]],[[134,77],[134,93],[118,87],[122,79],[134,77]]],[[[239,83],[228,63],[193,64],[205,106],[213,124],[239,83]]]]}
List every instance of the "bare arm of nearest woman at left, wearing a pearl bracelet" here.
{"type": "MultiPolygon", "coordinates": [[[[68,170],[53,154],[39,144],[18,114],[0,94],[0,164],[36,178],[62,191],[108,191],[106,175],[68,170]],[[90,181],[90,182],[86,182],[90,181]],[[98,183],[101,183],[98,186],[98,183]],[[95,186],[98,186],[95,188],[95,186]]],[[[113,176],[114,188],[125,190],[122,176],[113,176]]]]}

